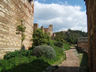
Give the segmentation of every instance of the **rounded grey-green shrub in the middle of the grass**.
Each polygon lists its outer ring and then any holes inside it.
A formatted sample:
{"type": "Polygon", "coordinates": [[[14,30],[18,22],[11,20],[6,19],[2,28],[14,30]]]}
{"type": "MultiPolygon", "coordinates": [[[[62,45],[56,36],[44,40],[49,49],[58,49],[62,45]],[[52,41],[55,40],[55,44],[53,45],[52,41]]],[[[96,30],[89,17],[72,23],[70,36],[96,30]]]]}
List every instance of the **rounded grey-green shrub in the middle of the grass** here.
{"type": "Polygon", "coordinates": [[[56,57],[56,53],[55,50],[47,45],[40,45],[40,46],[36,46],[33,49],[33,55],[37,56],[37,57],[46,57],[48,59],[52,59],[56,57]]]}

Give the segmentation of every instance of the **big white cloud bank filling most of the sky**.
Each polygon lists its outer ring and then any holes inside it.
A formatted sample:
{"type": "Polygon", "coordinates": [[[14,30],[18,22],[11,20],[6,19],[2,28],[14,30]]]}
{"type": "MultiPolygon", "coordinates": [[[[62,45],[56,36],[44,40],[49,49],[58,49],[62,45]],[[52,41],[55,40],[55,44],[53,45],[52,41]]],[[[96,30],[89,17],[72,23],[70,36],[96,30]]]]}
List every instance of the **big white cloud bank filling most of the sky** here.
{"type": "Polygon", "coordinates": [[[43,4],[35,1],[35,21],[47,27],[53,24],[54,31],[67,29],[87,31],[86,11],[80,6],[43,4]]]}

